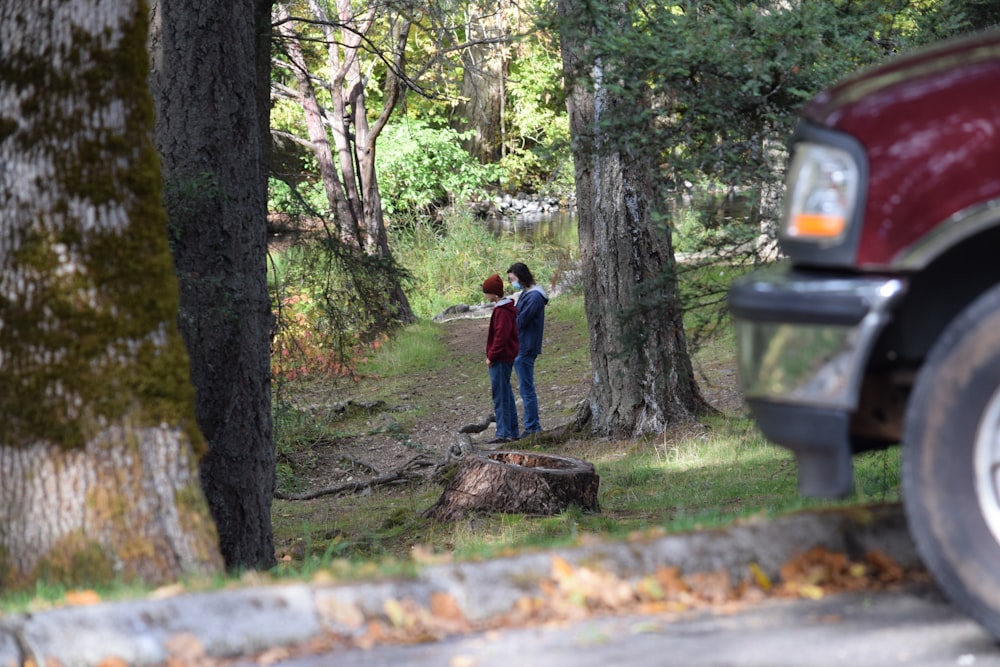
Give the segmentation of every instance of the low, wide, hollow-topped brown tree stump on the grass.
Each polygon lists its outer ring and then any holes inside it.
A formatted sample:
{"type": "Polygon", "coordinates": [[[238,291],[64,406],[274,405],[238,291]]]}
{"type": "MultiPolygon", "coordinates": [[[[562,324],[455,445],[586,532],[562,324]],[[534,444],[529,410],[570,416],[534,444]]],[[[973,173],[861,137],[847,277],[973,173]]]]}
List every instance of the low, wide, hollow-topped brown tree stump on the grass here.
{"type": "Polygon", "coordinates": [[[550,515],[570,505],[599,512],[600,480],[594,465],[580,459],[516,451],[470,454],[423,516],[453,521],[479,512],[550,515]]]}

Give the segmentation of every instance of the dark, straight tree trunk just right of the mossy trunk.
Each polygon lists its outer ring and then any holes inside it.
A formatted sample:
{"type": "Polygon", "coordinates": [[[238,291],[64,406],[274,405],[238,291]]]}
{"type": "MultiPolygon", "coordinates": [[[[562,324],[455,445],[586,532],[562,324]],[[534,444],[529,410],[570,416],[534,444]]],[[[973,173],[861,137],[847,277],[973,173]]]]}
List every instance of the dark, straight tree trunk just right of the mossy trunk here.
{"type": "MultiPolygon", "coordinates": [[[[268,0],[159,0],[152,81],[180,329],[209,451],[202,485],[230,568],[274,565],[267,182],[259,65],[268,0]]],[[[266,108],[266,107],[265,107],[266,108]]]]}

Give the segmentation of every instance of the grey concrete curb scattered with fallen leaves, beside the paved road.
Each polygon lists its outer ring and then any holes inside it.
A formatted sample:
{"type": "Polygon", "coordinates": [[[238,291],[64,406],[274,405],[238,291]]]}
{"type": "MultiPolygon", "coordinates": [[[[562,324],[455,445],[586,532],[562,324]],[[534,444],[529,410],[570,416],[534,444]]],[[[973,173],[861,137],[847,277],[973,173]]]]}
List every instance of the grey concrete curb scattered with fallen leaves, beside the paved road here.
{"type": "Polygon", "coordinates": [[[238,658],[330,633],[361,637],[370,621],[389,620],[388,602],[407,600],[429,609],[440,594],[481,625],[509,613],[526,596],[539,595],[556,556],[628,580],[676,566],[682,573],[725,569],[740,581],[751,564],[777,580],[784,563],[817,546],[848,555],[878,550],[903,567],[920,564],[897,505],[803,513],[725,530],[427,566],[407,580],[274,584],[10,615],[0,617],[0,667],[29,658],[36,664],[55,659],[63,667],[98,667],[110,658],[157,665],[176,659],[179,639],[193,641],[211,658],[238,658]]]}

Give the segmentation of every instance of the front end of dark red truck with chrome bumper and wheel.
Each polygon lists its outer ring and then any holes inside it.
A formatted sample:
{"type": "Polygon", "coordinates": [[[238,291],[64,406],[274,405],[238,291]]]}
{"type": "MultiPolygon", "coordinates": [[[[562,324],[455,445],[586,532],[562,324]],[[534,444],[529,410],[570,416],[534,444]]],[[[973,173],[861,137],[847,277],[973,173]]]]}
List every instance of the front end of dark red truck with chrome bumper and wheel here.
{"type": "Polygon", "coordinates": [[[901,445],[924,562],[1000,638],[1000,32],[824,91],[790,150],[787,262],[729,292],[746,402],[806,495],[901,445]]]}

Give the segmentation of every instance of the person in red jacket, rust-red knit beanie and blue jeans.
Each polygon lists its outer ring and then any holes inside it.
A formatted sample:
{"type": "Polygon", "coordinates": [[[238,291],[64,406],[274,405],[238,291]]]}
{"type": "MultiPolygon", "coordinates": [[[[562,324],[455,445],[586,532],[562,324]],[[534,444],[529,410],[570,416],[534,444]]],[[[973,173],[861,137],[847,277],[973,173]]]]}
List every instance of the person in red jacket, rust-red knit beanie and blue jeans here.
{"type": "Polygon", "coordinates": [[[496,438],[488,444],[494,445],[519,439],[517,405],[514,403],[514,389],[510,385],[510,374],[517,357],[517,307],[514,300],[504,297],[503,279],[494,273],[483,281],[483,293],[493,303],[490,315],[490,331],[486,336],[486,365],[490,369],[490,390],[493,393],[493,413],[496,415],[496,438]]]}

